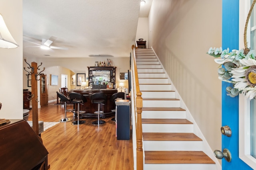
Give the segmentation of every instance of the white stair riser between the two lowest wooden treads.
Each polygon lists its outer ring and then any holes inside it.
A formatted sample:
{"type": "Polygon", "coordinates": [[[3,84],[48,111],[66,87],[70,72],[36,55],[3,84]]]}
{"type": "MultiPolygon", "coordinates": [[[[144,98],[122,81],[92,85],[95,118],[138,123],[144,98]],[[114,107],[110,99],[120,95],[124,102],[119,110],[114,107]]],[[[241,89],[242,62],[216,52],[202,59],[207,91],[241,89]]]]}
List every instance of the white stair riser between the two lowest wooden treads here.
{"type": "Polygon", "coordinates": [[[203,149],[202,141],[143,141],[144,150],[191,150],[203,149]]]}

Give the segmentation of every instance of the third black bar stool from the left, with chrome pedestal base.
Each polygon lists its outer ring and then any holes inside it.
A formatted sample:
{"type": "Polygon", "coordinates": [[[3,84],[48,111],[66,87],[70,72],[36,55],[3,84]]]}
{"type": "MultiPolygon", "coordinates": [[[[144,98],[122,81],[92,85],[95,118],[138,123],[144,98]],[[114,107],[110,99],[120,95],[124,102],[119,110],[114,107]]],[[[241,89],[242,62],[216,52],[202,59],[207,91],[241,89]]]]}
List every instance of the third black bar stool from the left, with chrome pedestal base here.
{"type": "Polygon", "coordinates": [[[94,125],[101,125],[106,123],[104,120],[100,120],[100,104],[105,104],[107,101],[108,96],[105,93],[94,93],[91,95],[90,100],[92,104],[98,104],[98,111],[95,111],[94,113],[98,112],[98,121],[92,122],[94,125]]]}

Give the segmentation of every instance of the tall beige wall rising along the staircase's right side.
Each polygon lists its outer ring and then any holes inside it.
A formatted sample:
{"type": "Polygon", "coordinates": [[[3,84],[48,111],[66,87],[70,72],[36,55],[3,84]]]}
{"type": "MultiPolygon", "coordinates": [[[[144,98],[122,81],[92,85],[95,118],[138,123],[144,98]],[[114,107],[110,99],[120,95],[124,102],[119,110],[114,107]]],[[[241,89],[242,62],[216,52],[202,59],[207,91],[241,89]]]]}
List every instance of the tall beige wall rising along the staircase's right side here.
{"type": "Polygon", "coordinates": [[[221,0],[153,0],[149,47],[158,55],[212,150],[221,150],[221,81],[207,55],[221,47],[221,0]]]}

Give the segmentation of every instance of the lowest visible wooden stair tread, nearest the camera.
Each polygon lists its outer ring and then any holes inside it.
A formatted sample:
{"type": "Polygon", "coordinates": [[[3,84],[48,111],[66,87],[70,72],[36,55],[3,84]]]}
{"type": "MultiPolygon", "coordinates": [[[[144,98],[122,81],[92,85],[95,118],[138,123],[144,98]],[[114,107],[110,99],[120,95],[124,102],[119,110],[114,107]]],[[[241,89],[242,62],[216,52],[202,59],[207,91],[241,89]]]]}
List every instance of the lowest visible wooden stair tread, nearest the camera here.
{"type": "Polygon", "coordinates": [[[202,151],[145,151],[146,164],[215,164],[202,151]]]}

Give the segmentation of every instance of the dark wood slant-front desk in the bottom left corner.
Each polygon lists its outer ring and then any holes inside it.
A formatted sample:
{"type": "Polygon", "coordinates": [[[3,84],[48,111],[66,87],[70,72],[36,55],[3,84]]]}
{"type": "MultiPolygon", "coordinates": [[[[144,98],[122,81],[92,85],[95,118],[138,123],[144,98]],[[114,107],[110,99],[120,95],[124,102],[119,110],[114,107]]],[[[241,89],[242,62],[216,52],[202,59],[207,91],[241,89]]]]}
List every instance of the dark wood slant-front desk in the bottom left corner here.
{"type": "Polygon", "coordinates": [[[10,119],[0,125],[2,170],[43,170],[48,167],[48,151],[27,121],[10,119]]]}

